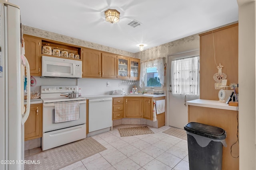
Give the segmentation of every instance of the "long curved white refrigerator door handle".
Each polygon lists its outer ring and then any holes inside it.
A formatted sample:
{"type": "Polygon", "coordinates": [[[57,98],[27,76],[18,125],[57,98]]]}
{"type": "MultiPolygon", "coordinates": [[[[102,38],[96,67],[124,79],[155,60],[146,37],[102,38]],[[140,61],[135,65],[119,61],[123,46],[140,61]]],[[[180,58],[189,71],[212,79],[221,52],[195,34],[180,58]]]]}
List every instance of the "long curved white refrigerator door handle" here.
{"type": "Polygon", "coordinates": [[[22,125],[24,125],[25,121],[28,119],[29,116],[29,112],[30,112],[30,68],[29,68],[29,64],[28,64],[28,60],[26,59],[26,57],[24,56],[24,61],[25,61],[25,65],[26,65],[26,74],[27,74],[27,80],[29,81],[28,85],[27,85],[27,106],[26,106],[26,111],[24,113],[24,115],[22,116],[22,125]]]}

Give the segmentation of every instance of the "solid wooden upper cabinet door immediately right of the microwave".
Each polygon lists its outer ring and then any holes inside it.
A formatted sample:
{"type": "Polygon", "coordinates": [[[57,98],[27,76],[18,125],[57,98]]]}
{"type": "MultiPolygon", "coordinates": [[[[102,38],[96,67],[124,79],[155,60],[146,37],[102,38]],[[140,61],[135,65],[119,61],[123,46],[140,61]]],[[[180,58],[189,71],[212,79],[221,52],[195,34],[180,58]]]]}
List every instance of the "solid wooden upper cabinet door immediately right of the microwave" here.
{"type": "Polygon", "coordinates": [[[82,77],[101,77],[101,52],[82,49],[82,77]]]}

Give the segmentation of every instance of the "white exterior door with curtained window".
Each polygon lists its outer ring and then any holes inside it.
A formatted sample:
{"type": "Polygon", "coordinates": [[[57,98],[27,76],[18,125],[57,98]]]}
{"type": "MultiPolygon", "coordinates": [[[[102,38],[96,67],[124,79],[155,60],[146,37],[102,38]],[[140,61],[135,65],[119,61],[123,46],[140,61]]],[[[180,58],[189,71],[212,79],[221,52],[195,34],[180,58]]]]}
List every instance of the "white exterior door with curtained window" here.
{"type": "Polygon", "coordinates": [[[199,99],[199,50],[168,56],[169,125],[184,129],[186,101],[199,99]]]}

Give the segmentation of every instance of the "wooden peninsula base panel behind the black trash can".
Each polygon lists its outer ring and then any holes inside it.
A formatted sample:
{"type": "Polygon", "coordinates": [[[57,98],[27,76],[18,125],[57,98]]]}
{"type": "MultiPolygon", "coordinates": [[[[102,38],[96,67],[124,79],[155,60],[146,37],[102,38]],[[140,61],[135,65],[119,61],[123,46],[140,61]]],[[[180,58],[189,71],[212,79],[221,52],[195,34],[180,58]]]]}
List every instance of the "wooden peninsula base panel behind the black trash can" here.
{"type": "Polygon", "coordinates": [[[198,122],[216,126],[226,131],[226,143],[223,147],[222,170],[239,169],[238,112],[234,110],[188,105],[188,122],[198,122]],[[233,145],[234,144],[234,145],[233,145]]]}

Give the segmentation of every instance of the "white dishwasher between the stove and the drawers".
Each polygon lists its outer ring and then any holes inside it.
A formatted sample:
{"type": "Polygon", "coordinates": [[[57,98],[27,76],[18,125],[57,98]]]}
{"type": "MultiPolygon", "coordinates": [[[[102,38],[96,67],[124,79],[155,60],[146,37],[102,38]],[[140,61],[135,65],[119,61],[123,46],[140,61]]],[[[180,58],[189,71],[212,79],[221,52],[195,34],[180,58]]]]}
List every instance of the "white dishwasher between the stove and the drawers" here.
{"type": "Polygon", "coordinates": [[[109,131],[112,127],[112,98],[89,99],[88,136],[109,131]]]}

